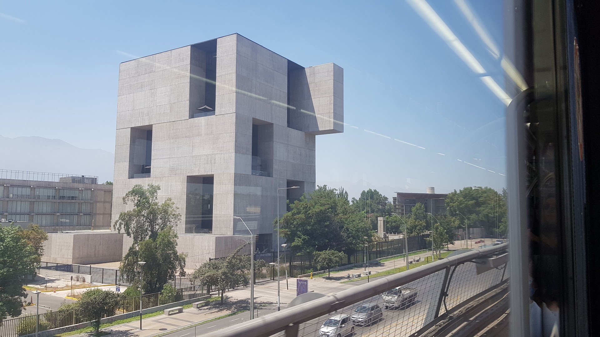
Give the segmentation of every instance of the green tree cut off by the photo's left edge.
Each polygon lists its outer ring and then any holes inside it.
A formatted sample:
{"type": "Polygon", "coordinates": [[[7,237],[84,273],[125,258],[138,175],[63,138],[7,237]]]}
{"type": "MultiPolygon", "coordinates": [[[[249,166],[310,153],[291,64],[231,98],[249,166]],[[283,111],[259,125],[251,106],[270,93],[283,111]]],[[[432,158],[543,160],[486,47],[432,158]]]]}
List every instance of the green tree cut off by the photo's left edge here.
{"type": "Polygon", "coordinates": [[[25,275],[34,275],[40,255],[20,227],[0,226],[0,320],[17,317],[27,296],[25,275]]]}

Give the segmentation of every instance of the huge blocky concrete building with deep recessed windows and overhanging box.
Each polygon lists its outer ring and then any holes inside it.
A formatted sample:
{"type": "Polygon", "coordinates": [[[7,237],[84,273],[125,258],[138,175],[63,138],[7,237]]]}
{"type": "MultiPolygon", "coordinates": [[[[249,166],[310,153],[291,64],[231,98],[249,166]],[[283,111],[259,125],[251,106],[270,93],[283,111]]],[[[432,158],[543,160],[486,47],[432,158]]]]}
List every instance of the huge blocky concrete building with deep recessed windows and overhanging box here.
{"type": "Polygon", "coordinates": [[[124,62],[113,221],[127,191],[153,183],[179,207],[179,251],[201,255],[188,263],[248,233],[233,216],[273,249],[277,208],[315,188],[315,136],[343,130],[342,68],[305,68],[239,34],[124,62]]]}

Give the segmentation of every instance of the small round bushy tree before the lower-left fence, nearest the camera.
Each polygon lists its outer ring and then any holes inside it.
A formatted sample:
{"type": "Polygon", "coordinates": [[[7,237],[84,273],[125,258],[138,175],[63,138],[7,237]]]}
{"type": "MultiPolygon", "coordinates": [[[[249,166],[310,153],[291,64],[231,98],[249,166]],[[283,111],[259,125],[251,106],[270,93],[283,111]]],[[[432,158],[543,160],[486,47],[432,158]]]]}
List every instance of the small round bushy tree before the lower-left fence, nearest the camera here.
{"type": "Polygon", "coordinates": [[[100,330],[100,319],[115,315],[120,298],[121,296],[113,291],[98,288],[82,294],[77,306],[80,312],[85,312],[92,318],[95,335],[98,335],[98,330],[100,330]]]}

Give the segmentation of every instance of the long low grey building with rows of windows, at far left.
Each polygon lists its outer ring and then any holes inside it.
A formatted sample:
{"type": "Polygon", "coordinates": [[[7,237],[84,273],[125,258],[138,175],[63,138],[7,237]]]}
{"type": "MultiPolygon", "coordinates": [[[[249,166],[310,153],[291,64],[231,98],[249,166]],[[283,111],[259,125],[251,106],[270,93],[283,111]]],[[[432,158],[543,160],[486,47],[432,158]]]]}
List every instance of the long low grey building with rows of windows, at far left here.
{"type": "Polygon", "coordinates": [[[46,231],[109,229],[112,188],[95,176],[0,170],[0,222],[46,231]]]}

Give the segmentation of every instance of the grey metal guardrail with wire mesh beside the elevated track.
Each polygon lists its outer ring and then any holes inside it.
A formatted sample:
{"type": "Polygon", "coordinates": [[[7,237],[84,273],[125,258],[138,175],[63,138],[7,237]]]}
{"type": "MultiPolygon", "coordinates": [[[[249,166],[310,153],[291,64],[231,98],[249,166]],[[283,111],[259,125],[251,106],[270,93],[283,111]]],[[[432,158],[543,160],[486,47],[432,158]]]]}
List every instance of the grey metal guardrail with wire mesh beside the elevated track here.
{"type": "Polygon", "coordinates": [[[509,276],[506,270],[506,255],[503,256],[502,264],[499,264],[502,257],[490,260],[487,257],[499,255],[499,252],[504,252],[506,249],[508,243],[503,243],[447,257],[395,275],[371,279],[369,283],[208,333],[205,336],[337,337],[350,333],[354,336],[369,337],[416,336],[419,330],[440,315],[451,314],[453,309],[460,308],[469,302],[469,299],[504,284],[509,276]],[[416,297],[400,302],[397,308],[391,306],[386,308],[388,303],[381,294],[401,286],[414,288],[417,291],[416,297]],[[350,321],[344,327],[337,327],[331,334],[323,334],[328,330],[328,328],[322,330],[326,318],[339,314],[356,316],[360,313],[355,312],[355,308],[365,303],[370,303],[370,306],[377,305],[381,311],[362,321],[365,323],[364,326],[355,325],[350,321]]]}

